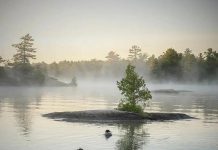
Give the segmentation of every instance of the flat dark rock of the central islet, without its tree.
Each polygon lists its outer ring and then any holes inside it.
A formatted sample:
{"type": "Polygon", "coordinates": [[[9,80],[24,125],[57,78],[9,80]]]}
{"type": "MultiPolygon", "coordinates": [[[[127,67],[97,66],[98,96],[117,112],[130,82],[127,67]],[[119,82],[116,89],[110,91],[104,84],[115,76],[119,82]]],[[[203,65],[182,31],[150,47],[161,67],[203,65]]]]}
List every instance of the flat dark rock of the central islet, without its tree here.
{"type": "Polygon", "coordinates": [[[133,113],[119,110],[86,110],[74,112],[53,112],[44,114],[44,117],[50,119],[68,121],[68,122],[128,122],[128,121],[165,121],[165,120],[180,120],[193,119],[186,114],[181,113],[133,113]]]}

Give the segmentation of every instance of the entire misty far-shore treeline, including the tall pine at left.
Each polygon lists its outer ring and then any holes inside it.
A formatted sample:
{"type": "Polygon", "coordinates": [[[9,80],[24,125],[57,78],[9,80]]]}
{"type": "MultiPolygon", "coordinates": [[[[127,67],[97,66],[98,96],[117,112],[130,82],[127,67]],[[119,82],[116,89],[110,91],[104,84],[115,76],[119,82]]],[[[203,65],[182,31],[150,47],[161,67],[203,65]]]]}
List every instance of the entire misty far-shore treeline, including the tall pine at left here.
{"type": "Polygon", "coordinates": [[[47,64],[30,63],[36,59],[32,48],[32,37],[27,34],[22,42],[13,44],[17,53],[13,60],[4,60],[0,56],[0,84],[43,84],[48,76],[72,79],[81,78],[121,78],[126,66],[131,63],[136,71],[147,81],[178,82],[216,82],[218,81],[218,53],[208,48],[197,56],[187,48],[183,53],[169,48],[159,57],[148,56],[140,47],[129,49],[129,57],[121,58],[115,51],[110,51],[106,60],[60,61],[47,64]]]}

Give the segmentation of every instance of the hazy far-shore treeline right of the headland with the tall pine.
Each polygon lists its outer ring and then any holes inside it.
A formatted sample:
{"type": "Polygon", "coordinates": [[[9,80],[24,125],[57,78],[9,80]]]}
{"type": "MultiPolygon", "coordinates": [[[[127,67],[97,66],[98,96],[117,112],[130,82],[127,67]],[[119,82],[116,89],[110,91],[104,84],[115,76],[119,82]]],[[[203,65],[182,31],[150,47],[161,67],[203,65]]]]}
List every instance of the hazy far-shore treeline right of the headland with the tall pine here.
{"type": "Polygon", "coordinates": [[[212,48],[195,56],[190,49],[178,53],[169,48],[159,57],[148,57],[138,46],[129,50],[129,57],[121,59],[110,51],[107,60],[60,61],[59,63],[37,63],[54,77],[71,78],[120,78],[131,63],[137,71],[150,81],[214,82],[218,81],[218,53],[212,48]]]}

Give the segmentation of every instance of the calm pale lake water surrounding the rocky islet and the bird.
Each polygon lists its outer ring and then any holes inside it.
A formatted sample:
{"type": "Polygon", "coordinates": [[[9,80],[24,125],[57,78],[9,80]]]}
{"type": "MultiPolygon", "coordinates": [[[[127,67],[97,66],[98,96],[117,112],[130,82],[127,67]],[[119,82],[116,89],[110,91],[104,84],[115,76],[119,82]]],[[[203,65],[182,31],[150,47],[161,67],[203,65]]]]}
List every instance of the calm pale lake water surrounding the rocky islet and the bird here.
{"type": "Polygon", "coordinates": [[[0,87],[1,150],[215,150],[218,149],[218,86],[148,84],[152,93],[145,111],[180,112],[198,119],[125,123],[70,123],[42,117],[58,111],[114,109],[120,99],[116,85],[78,87],[0,87]],[[113,136],[106,139],[104,131],[113,136]]]}

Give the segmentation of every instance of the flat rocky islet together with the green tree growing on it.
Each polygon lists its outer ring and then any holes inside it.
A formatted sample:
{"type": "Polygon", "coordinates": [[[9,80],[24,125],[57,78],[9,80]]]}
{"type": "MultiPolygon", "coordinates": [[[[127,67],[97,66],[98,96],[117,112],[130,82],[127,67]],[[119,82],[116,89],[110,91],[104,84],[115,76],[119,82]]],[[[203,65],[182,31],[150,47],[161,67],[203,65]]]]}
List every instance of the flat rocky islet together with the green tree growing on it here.
{"type": "MultiPolygon", "coordinates": [[[[143,77],[135,72],[135,66],[129,64],[125,77],[117,81],[117,86],[123,95],[116,110],[86,110],[75,112],[54,112],[44,114],[44,117],[69,122],[129,122],[129,121],[164,121],[191,119],[192,117],[181,113],[145,113],[146,101],[152,98],[146,87],[143,77]],[[141,103],[141,105],[139,104],[141,103]]],[[[177,93],[175,90],[159,92],[177,93]]]]}

